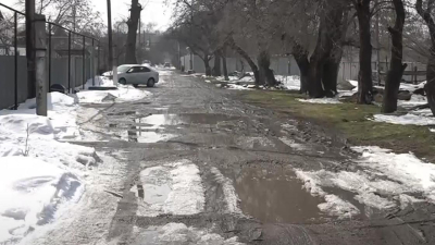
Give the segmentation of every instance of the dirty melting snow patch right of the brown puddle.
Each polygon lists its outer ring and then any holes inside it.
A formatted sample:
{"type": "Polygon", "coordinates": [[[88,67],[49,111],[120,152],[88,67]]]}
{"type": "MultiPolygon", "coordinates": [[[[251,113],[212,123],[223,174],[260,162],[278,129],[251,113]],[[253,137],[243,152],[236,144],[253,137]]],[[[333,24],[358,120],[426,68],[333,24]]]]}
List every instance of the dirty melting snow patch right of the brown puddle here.
{"type": "Polygon", "coordinates": [[[435,204],[435,166],[424,163],[412,154],[394,154],[380,147],[353,147],[362,154],[357,160],[357,172],[296,171],[311,194],[325,197],[326,204],[319,208],[335,212],[337,207],[349,210],[350,204],[327,197],[325,189],[340,188],[355,193],[355,200],[366,207],[389,210],[423,201],[412,195],[423,196],[435,204]],[[333,207],[334,210],[331,210],[333,207]]]}

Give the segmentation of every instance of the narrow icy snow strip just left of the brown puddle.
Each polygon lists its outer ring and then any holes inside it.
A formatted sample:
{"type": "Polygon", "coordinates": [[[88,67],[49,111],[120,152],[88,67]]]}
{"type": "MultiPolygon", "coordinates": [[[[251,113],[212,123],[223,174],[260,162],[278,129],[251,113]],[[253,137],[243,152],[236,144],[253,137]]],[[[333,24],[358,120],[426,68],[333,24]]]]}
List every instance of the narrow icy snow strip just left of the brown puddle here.
{"type": "Polygon", "coordinates": [[[228,177],[225,177],[221,171],[216,168],[211,168],[211,172],[215,175],[216,181],[222,185],[222,189],[224,192],[225,196],[225,203],[228,211],[231,213],[239,213],[243,215],[240,208],[239,208],[239,203],[240,199],[238,198],[236,194],[236,189],[233,186],[233,181],[229,180],[228,177]]]}

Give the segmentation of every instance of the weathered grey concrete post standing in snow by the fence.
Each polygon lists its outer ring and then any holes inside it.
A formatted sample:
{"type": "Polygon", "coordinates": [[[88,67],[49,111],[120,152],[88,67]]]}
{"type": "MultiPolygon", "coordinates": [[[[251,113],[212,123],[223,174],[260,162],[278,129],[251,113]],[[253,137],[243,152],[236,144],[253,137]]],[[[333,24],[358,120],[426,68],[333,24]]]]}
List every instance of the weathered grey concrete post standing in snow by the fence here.
{"type": "Polygon", "coordinates": [[[47,117],[46,16],[35,14],[36,114],[47,117]]]}

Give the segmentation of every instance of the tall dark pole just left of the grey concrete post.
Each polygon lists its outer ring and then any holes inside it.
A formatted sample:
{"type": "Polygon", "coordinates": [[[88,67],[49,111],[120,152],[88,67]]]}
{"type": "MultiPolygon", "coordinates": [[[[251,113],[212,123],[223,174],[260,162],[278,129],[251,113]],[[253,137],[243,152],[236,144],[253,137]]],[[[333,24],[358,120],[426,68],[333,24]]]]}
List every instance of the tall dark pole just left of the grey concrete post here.
{"type": "Polygon", "coordinates": [[[26,57],[27,57],[27,98],[36,96],[35,71],[35,0],[26,0],[26,57]]]}

